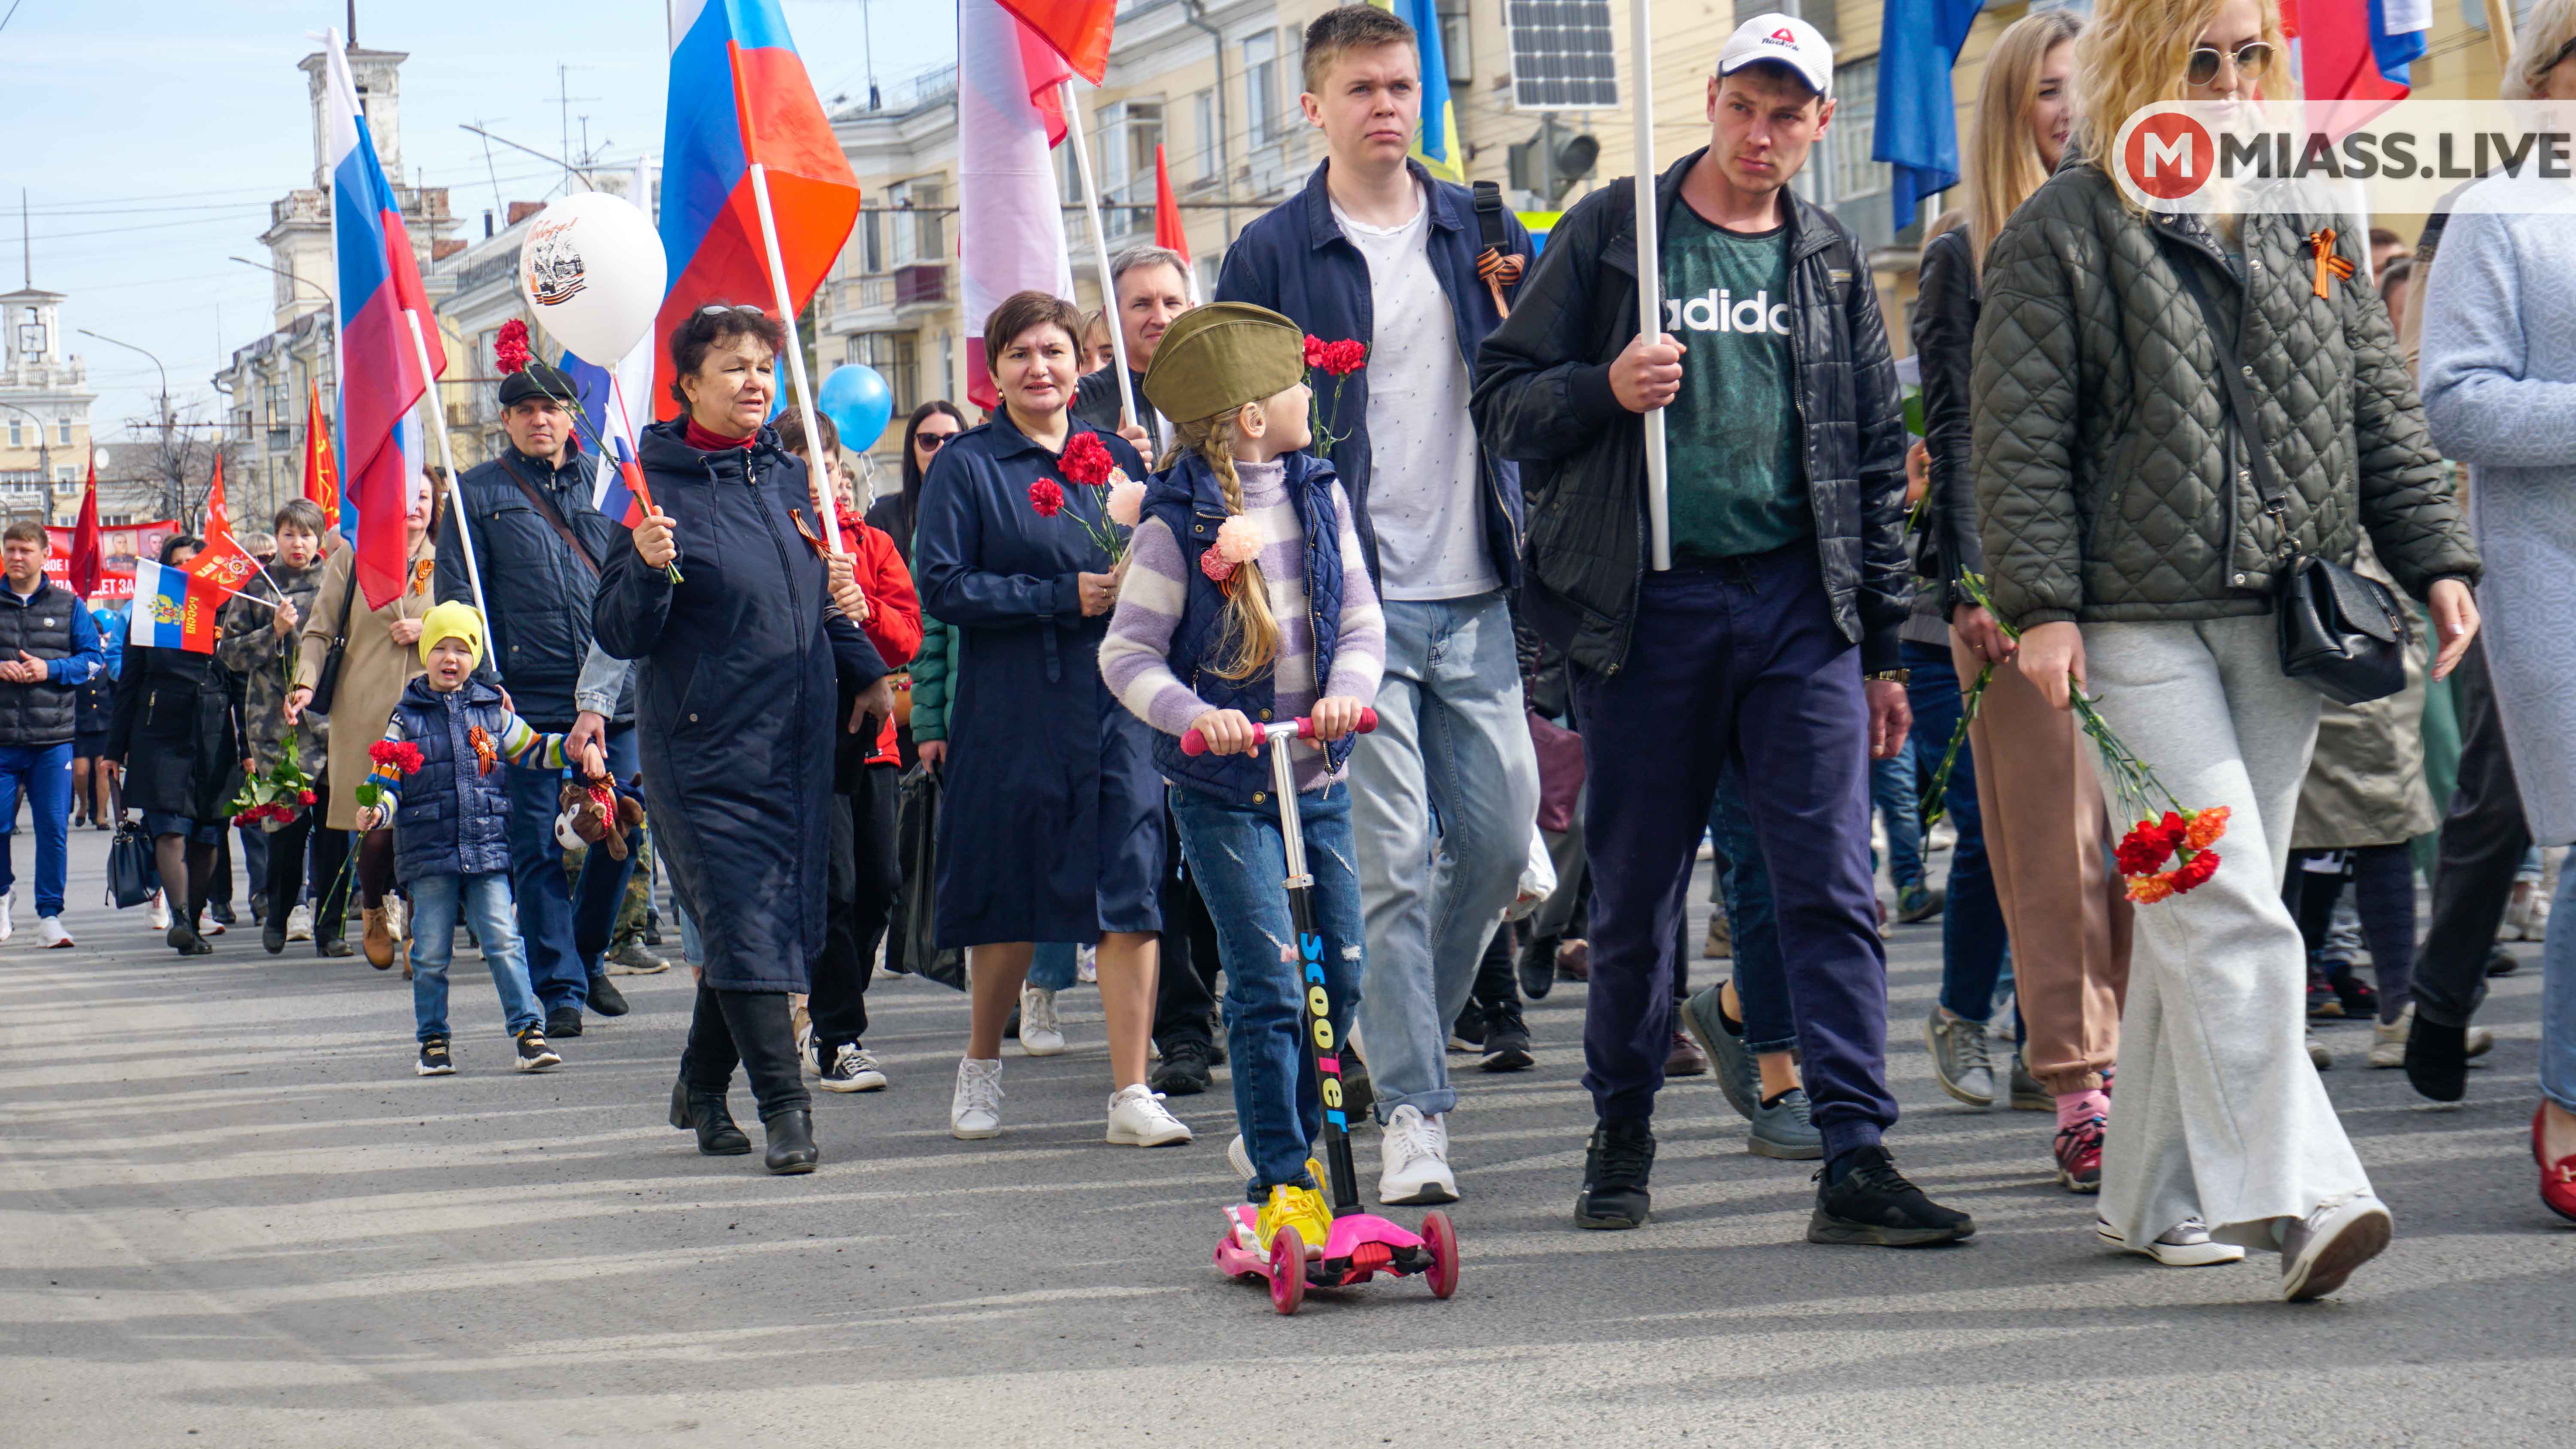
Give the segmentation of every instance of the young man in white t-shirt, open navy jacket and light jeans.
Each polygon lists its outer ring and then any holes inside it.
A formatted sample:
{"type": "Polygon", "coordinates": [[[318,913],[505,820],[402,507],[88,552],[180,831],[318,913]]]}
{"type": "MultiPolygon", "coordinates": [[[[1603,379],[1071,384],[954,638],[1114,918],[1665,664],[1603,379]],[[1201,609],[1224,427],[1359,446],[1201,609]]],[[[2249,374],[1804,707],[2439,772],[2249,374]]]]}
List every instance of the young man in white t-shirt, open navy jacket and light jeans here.
{"type": "MultiPolygon", "coordinates": [[[[1406,160],[1422,121],[1412,26],[1370,5],[1324,10],[1306,28],[1298,103],[1329,154],[1236,237],[1216,296],[1368,345],[1363,368],[1314,378],[1319,443],[1332,440],[1386,602],[1378,731],[1352,757],[1368,924],[1358,1029],[1386,1125],[1378,1199],[1450,1202],[1448,1024],[1538,816],[1510,613],[1520,471],[1479,445],[1468,417],[1468,365],[1502,314],[1479,275],[1473,196],[1406,160]]],[[[1502,252],[1528,260],[1528,232],[1507,226],[1502,252]]]]}

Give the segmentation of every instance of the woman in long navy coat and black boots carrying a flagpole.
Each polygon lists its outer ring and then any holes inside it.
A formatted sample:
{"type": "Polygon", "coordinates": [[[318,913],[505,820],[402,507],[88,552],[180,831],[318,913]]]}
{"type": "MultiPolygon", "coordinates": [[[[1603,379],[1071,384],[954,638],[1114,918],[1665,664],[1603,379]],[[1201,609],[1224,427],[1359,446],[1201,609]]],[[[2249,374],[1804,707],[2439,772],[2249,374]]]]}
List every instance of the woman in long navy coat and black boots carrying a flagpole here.
{"type": "Polygon", "coordinates": [[[639,440],[657,512],[611,551],[592,625],[600,649],[641,661],[644,806],[706,955],[672,1127],[693,1127],[701,1153],[752,1150],[724,1107],[739,1060],[768,1168],[814,1171],[788,993],[822,952],[832,734],[866,723],[835,718],[835,672],[860,690],[860,715],[891,705],[884,659],[832,605],[848,571],[806,540],[822,528],[806,468],[760,425],[781,342],[752,306],[711,306],[672,332],[688,417],[639,440]]]}

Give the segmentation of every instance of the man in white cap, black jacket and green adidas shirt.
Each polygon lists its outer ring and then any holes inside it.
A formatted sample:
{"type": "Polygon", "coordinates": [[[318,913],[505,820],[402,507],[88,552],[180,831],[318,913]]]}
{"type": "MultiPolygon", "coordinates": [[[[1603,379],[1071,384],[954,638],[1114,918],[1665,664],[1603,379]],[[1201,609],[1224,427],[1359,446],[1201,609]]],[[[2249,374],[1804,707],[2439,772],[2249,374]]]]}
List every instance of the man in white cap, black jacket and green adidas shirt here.
{"type": "Polygon", "coordinates": [[[1906,430],[1857,245],[1788,190],[1834,116],[1832,82],[1814,26],[1736,28],[1708,80],[1708,149],[1656,180],[1672,332],[1636,329],[1636,183],[1620,180],[1551,232],[1479,355],[1479,430],[1520,461],[1535,510],[1522,605],[1574,661],[1584,734],[1584,1086],[1600,1117],[1574,1202],[1584,1228],[1646,1220],[1682,896],[1734,762],[1824,1135],[1808,1241],[1973,1230],[1878,1143],[1896,1099],[1868,762],[1906,744],[1906,430]],[[1646,569],[1651,409],[1667,417],[1669,571],[1646,569]]]}

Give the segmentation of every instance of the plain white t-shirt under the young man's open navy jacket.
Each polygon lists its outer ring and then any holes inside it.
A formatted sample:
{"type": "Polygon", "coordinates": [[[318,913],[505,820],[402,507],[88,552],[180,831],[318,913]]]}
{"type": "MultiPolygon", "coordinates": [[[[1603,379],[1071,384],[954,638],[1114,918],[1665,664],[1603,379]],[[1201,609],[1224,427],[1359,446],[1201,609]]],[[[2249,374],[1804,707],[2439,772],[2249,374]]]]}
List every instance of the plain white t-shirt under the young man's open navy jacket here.
{"type": "MultiPolygon", "coordinates": [[[[1388,600],[1463,600],[1502,587],[1484,548],[1484,481],[1458,319],[1432,275],[1430,198],[1414,188],[1414,219],[1368,226],[1340,206],[1350,245],[1368,257],[1368,522],[1378,535],[1378,582],[1388,600]]],[[[1332,407],[1332,378],[1316,389],[1332,407]]]]}

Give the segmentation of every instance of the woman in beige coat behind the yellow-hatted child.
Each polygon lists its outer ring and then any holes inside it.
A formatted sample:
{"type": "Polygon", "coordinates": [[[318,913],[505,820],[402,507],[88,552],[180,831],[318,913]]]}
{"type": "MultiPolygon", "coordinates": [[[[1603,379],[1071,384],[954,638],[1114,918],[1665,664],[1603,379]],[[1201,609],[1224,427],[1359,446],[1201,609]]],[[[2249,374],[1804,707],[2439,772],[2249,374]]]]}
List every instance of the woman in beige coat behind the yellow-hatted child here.
{"type": "MultiPolygon", "coordinates": [[[[348,643],[340,651],[340,685],[330,705],[330,816],[335,831],[358,829],[358,785],[368,775],[366,746],[384,739],[384,721],[394,715],[402,687],[420,674],[420,620],[438,600],[430,592],[430,564],[435,558],[433,520],[446,486],[438,474],[412,502],[404,517],[410,543],[410,579],[402,595],[381,610],[363,607],[366,595],[350,592],[350,564],[355,551],[335,548],[322,566],[322,587],[314,592],[314,613],[304,620],[301,651],[296,656],[296,687],[286,695],[286,721],[294,723],[314,697],[322,679],[322,661],[330,659],[332,633],[348,610],[348,643]]],[[[402,903],[394,891],[394,831],[392,826],[366,831],[358,842],[358,903],[366,919],[366,960],[376,970],[394,965],[394,939],[402,937],[402,903]]],[[[345,898],[345,896],[343,896],[345,898]]],[[[345,906],[343,906],[345,909],[345,906]]]]}

